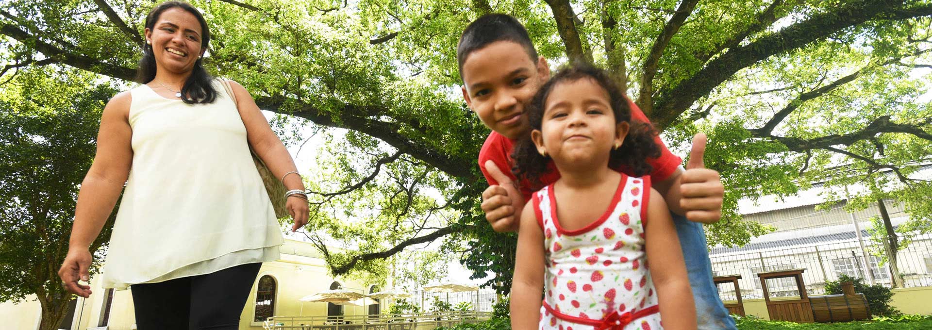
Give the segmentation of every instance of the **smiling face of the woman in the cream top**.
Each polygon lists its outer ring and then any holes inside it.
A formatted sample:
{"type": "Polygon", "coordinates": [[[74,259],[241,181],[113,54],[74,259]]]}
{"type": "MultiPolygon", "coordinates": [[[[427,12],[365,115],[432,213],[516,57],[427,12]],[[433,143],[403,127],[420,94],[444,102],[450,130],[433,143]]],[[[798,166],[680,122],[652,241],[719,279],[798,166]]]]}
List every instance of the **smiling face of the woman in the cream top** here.
{"type": "Polygon", "coordinates": [[[158,67],[176,74],[194,68],[204,51],[201,37],[198,18],[180,7],[162,11],[152,29],[145,29],[145,40],[152,46],[158,67]]]}

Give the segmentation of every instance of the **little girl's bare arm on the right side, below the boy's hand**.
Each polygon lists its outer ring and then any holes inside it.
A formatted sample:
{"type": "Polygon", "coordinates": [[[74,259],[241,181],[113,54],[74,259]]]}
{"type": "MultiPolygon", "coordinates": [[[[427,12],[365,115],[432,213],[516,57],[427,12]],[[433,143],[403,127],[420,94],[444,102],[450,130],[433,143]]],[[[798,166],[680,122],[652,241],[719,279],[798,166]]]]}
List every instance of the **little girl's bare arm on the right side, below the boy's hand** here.
{"type": "MultiPolygon", "coordinates": [[[[660,318],[669,330],[694,330],[696,309],[692,301],[692,288],[686,275],[686,263],[679,247],[677,230],[667,212],[664,197],[651,189],[648,218],[644,219],[644,241],[647,260],[651,266],[651,279],[657,288],[660,301],[660,318]]],[[[520,240],[520,239],[519,239],[520,240]]]]}

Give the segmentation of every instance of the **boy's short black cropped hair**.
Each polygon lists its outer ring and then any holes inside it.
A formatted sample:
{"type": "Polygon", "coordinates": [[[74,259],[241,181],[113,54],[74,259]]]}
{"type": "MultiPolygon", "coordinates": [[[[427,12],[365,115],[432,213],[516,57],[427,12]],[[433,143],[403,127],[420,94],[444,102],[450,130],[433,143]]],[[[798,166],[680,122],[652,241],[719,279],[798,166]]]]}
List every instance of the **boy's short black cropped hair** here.
{"type": "Polygon", "coordinates": [[[463,74],[463,62],[473,51],[485,48],[496,41],[515,42],[528,52],[531,62],[537,62],[537,50],[530,41],[528,30],[520,21],[508,14],[487,14],[476,19],[463,34],[459,36],[457,45],[457,62],[459,63],[459,76],[463,74]]]}

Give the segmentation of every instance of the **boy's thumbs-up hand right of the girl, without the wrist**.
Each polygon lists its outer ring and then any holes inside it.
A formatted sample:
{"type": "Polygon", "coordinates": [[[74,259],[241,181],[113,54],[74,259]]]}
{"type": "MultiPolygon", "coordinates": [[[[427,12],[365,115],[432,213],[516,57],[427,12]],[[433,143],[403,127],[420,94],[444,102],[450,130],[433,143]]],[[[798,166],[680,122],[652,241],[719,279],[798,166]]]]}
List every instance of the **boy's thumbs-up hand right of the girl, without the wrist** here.
{"type": "Polygon", "coordinates": [[[679,206],[690,221],[712,224],[721,219],[725,187],[718,171],[706,169],[705,154],[706,134],[698,133],[692,138],[690,162],[680,178],[679,206]]]}

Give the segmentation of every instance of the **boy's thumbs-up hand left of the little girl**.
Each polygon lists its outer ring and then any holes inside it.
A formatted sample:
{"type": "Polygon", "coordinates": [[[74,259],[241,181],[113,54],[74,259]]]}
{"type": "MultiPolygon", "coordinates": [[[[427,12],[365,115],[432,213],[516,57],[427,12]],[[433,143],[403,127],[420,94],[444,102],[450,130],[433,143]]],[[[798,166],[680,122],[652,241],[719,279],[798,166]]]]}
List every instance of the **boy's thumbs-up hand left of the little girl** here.
{"type": "Polygon", "coordinates": [[[498,185],[488,186],[482,192],[482,211],[492,229],[498,232],[518,231],[521,210],[524,210],[524,198],[514,181],[499,170],[492,160],[486,160],[486,172],[498,181],[498,185]]]}

